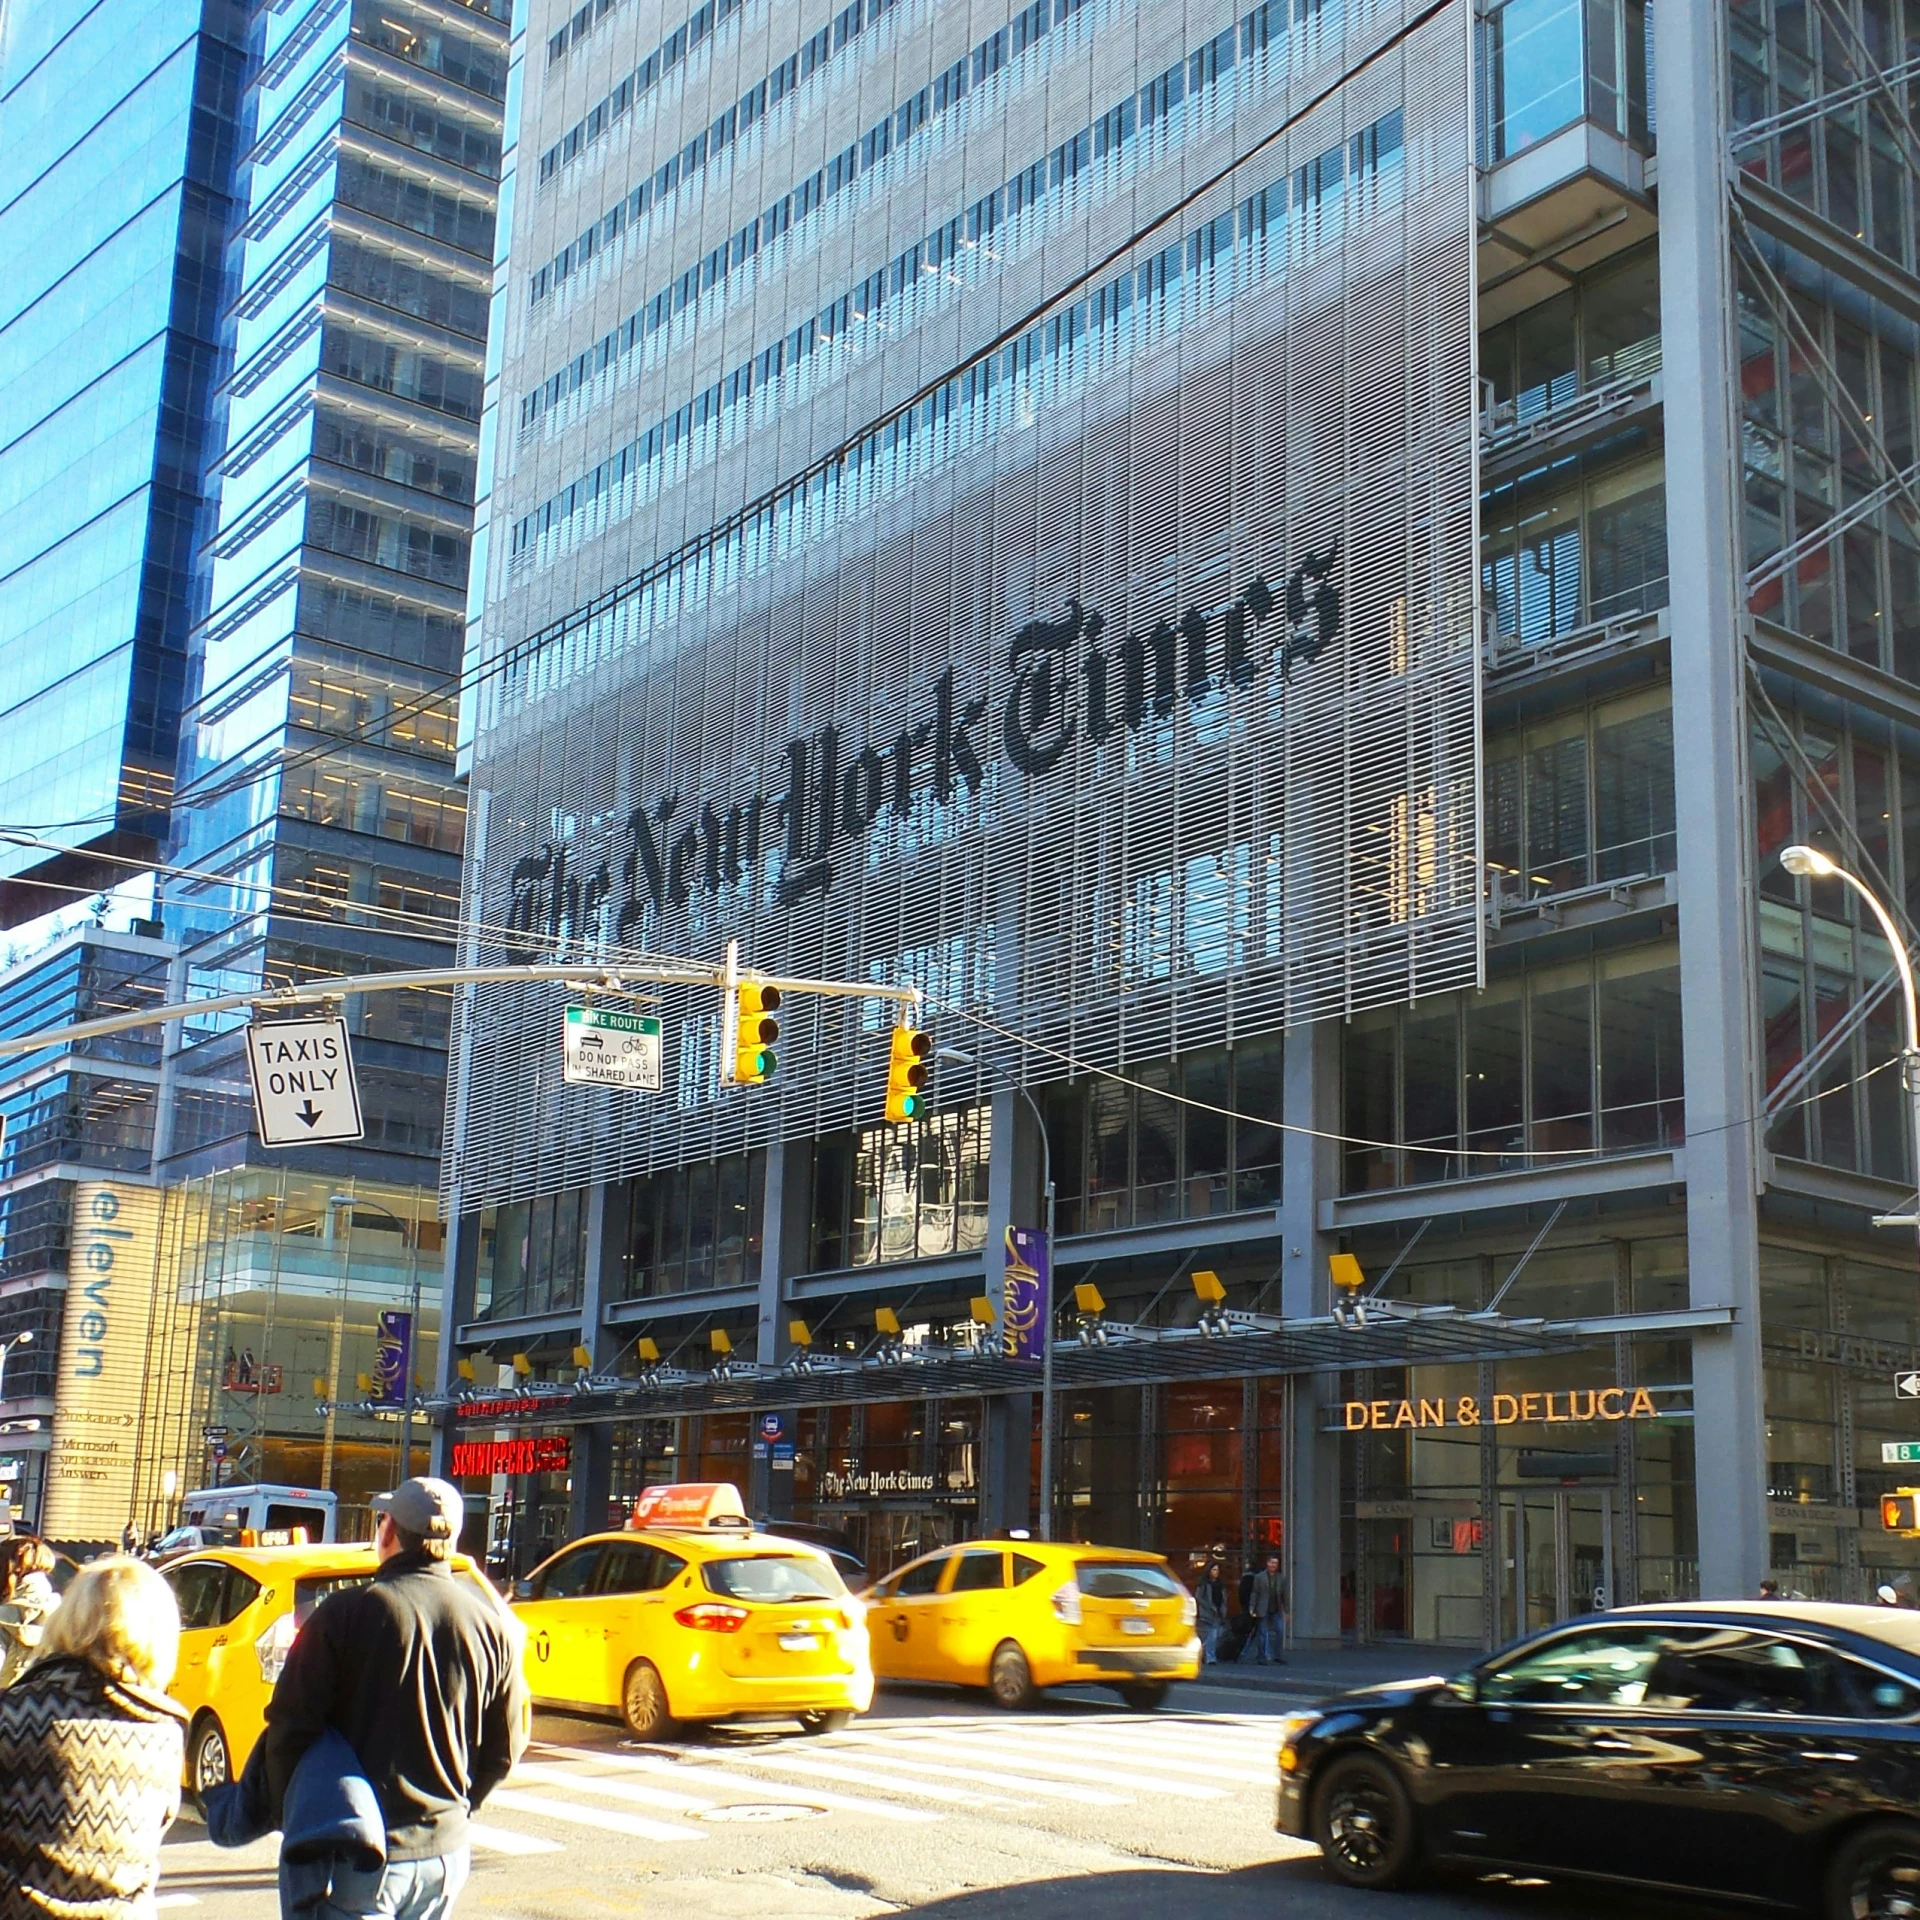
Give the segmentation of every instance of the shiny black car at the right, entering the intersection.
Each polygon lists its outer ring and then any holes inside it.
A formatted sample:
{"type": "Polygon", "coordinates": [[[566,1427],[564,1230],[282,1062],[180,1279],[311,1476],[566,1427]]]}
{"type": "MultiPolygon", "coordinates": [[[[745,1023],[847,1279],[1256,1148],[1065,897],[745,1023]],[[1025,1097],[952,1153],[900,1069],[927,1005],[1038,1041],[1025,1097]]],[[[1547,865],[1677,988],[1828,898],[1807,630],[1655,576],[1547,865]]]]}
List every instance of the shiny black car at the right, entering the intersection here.
{"type": "Polygon", "coordinates": [[[1920,1613],[1626,1607],[1281,1728],[1336,1878],[1524,1870],[1830,1920],[1920,1916],[1920,1613]]]}

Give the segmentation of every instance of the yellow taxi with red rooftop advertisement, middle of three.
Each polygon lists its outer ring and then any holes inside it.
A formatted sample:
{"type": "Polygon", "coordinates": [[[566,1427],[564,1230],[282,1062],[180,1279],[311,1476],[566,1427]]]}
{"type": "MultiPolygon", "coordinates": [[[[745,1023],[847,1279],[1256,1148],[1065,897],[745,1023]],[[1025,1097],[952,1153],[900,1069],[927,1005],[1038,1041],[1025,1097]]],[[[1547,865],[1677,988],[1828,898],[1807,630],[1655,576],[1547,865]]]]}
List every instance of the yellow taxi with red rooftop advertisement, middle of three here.
{"type": "Polygon", "coordinates": [[[845,1726],[874,1701],[866,1620],[833,1561],[755,1532],[728,1484],[653,1486],[628,1528],[515,1582],[541,1707],[616,1713],[641,1740],[689,1720],[845,1726]]]}

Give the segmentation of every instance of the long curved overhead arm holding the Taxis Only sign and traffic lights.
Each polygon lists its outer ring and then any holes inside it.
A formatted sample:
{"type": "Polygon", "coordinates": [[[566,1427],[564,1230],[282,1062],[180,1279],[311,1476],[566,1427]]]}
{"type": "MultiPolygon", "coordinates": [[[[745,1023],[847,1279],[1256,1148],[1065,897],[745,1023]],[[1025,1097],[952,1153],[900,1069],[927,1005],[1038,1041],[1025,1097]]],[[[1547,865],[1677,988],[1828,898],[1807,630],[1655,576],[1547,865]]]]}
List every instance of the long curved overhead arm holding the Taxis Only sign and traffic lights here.
{"type": "MultiPolygon", "coordinates": [[[[42,1046],[71,1046],[104,1033],[129,1033],[134,1027],[163,1027],[207,1014],[292,1012],[298,1006],[324,1006],[349,993],[430,993],[440,987],[515,987],[555,983],[578,987],[582,993],[624,993],[628,987],[714,987],[726,991],[739,983],[737,956],[730,981],[726,966],[707,966],[699,960],[620,960],[620,962],[540,962],[536,966],[445,966],[396,970],[392,973],[336,973],[324,979],[301,981],[298,987],[263,987],[257,993],[217,993],[204,1000],[179,1000],[171,1006],[148,1006],[134,1014],[104,1014],[71,1027],[50,1027],[44,1033],[13,1033],[0,1037],[0,1056],[33,1054],[42,1046]]],[[[829,1000],[893,1000],[918,1008],[918,987],[885,987],[870,979],[804,979],[787,973],[745,975],[780,993],[812,993],[829,1000]]],[[[732,995],[730,995],[732,998],[732,995]]]]}

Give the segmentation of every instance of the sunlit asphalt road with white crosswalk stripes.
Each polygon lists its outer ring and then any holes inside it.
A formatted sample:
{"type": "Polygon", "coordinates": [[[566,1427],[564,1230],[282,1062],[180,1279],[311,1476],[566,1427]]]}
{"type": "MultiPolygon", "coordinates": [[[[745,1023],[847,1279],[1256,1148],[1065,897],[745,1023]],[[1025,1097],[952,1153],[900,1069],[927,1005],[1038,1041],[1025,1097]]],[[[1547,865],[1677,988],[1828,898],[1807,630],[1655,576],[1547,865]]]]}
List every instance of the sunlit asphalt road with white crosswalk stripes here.
{"type": "MultiPolygon", "coordinates": [[[[1455,1884],[1357,1895],[1273,1832],[1275,1695],[1190,1686],[1137,1715],[1094,1692],[1031,1715],[887,1690],[845,1734],[714,1732],[639,1745],[540,1715],[482,1811],[467,1920],[1680,1920],[1638,1895],[1455,1884]]],[[[223,1853],[180,1820],[161,1908],[275,1910],[276,1843],[223,1853]]],[[[1699,1907],[1688,1920],[1711,1920],[1699,1907]]]]}

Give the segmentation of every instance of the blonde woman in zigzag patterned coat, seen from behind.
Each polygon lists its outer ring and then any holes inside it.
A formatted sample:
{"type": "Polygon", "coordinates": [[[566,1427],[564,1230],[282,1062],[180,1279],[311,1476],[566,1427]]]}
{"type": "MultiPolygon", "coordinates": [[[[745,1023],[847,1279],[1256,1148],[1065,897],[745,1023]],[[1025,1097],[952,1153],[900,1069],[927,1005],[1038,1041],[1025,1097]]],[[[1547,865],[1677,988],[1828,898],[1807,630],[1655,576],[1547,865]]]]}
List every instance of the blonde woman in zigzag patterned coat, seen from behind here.
{"type": "Polygon", "coordinates": [[[148,1920],[180,1809],[180,1613],[115,1553],[83,1567],[0,1693],[0,1920],[148,1920]]]}

